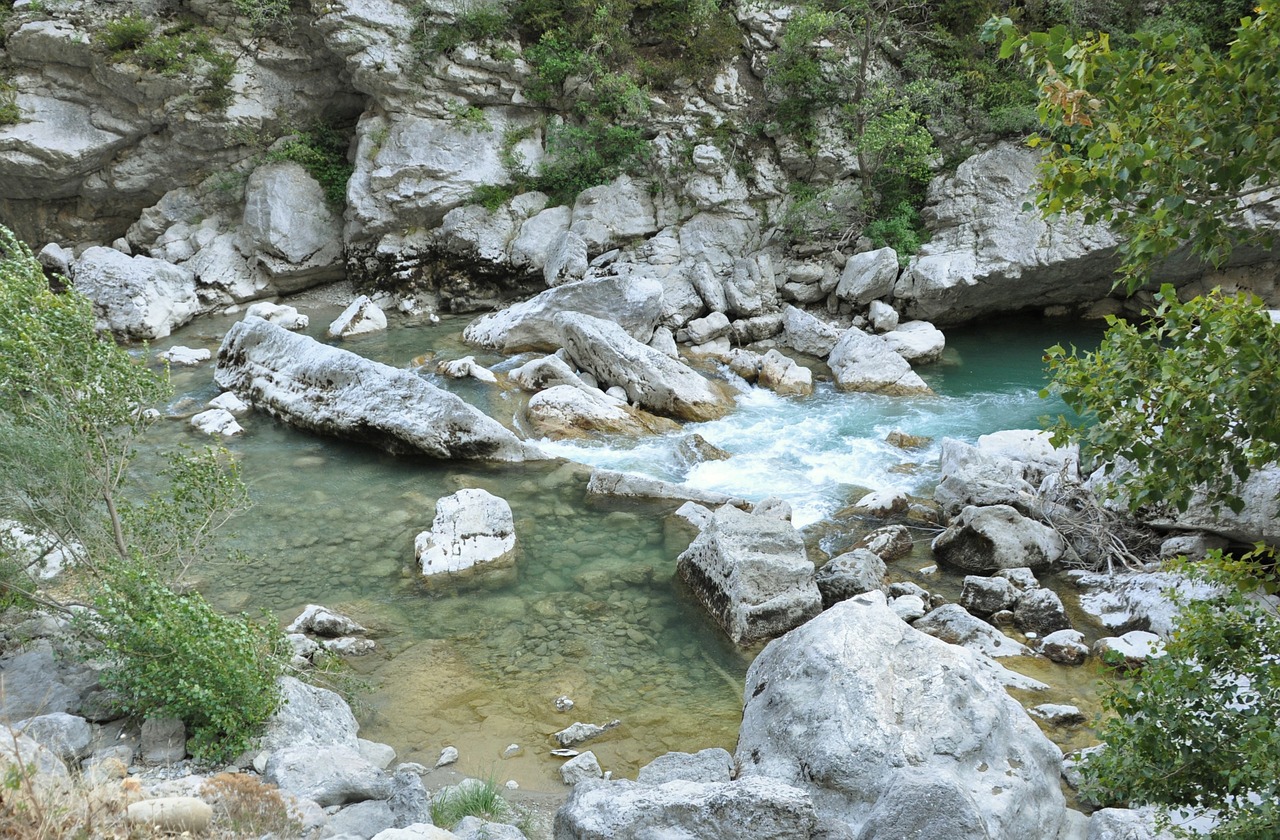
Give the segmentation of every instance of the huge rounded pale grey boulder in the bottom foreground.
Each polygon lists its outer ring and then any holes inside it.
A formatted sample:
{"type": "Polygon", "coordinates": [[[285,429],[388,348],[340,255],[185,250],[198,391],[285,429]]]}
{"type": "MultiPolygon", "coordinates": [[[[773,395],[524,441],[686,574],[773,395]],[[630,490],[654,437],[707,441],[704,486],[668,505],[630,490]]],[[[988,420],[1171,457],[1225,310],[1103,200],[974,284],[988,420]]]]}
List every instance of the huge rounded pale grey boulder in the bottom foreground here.
{"type": "Polygon", "coordinates": [[[740,782],[809,791],[827,836],[1056,837],[1066,818],[1062,753],[973,654],[881,593],[764,648],[735,755],[740,782]]]}

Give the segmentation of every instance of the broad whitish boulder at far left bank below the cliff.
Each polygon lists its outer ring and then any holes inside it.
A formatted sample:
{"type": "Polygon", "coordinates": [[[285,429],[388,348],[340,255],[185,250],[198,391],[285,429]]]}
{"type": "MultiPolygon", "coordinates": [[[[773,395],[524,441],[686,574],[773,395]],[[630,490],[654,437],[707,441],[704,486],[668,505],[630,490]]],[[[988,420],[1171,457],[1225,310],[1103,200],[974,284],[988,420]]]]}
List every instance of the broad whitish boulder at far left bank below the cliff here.
{"type": "Polygon", "coordinates": [[[123,338],[164,338],[200,311],[196,278],[188,269],[115,248],[84,251],[72,282],[93,301],[99,329],[123,338]]]}

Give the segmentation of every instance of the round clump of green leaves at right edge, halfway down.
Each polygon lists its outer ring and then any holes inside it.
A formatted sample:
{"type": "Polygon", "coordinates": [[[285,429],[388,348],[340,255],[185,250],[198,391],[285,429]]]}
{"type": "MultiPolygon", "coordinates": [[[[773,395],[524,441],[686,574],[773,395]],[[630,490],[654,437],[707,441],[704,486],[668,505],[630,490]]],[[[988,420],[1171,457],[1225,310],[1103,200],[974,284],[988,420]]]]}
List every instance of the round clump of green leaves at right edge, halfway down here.
{"type": "Polygon", "coordinates": [[[1179,302],[1156,295],[1142,324],[1110,316],[1098,350],[1048,348],[1053,387],[1080,419],[1059,417],[1114,471],[1130,508],[1187,510],[1199,494],[1239,512],[1239,485],[1280,456],[1280,327],[1252,295],[1179,302]]]}

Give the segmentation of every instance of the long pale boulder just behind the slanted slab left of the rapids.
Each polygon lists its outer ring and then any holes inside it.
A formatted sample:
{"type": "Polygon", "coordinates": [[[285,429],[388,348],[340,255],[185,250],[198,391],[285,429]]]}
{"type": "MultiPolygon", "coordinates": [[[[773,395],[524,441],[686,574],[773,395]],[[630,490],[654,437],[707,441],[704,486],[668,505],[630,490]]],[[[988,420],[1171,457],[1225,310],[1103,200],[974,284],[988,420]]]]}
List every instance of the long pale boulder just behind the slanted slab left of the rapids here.
{"type": "Polygon", "coordinates": [[[467,324],[462,338],[468,344],[503,353],[556,350],[559,337],[554,318],[559,312],[611,320],[632,338],[648,342],[662,315],[662,283],[625,277],[566,283],[502,311],[481,315],[467,324]]]}

